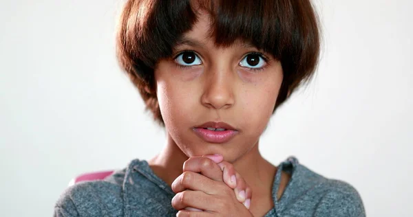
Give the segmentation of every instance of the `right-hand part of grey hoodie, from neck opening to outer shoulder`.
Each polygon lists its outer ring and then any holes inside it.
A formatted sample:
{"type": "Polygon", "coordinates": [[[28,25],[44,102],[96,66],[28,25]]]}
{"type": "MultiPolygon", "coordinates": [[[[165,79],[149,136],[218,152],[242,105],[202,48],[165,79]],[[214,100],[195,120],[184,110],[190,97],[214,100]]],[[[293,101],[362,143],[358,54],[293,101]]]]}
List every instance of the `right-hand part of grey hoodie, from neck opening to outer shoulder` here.
{"type": "Polygon", "coordinates": [[[291,175],[278,212],[312,216],[366,216],[359,192],[345,181],[328,179],[290,157],[281,165],[291,175]]]}

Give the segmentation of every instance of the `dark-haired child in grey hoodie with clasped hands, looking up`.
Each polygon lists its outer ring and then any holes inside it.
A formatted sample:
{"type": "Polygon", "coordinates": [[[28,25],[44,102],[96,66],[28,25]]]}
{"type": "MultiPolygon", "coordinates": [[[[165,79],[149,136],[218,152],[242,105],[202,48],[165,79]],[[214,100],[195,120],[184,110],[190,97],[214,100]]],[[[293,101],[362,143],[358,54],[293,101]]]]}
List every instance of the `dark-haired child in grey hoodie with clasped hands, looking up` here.
{"type": "Polygon", "coordinates": [[[316,17],[309,0],[127,1],[118,59],[167,145],[70,187],[54,216],[365,216],[351,185],[258,149],[315,71],[316,17]]]}

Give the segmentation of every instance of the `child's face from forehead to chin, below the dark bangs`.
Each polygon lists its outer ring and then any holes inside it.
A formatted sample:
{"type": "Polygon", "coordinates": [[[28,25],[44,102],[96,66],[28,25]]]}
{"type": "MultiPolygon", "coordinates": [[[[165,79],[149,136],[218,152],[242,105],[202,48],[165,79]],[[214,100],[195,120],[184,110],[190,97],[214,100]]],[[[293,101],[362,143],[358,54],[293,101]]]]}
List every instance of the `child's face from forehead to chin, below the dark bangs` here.
{"type": "Polygon", "coordinates": [[[266,128],[282,66],[242,41],[215,47],[209,25],[207,14],[200,15],[173,56],[158,62],[156,94],[168,136],[185,155],[221,154],[231,162],[251,150],[266,128]],[[214,124],[220,129],[207,129],[214,124]]]}

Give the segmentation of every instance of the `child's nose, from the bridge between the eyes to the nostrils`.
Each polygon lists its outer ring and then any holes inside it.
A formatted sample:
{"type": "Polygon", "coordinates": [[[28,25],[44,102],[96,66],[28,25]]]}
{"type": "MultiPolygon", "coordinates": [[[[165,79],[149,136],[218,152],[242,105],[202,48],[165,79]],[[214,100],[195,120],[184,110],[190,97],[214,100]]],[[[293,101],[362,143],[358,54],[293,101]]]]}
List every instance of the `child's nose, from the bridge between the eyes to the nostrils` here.
{"type": "Polygon", "coordinates": [[[210,109],[228,109],[235,103],[234,78],[231,69],[206,71],[202,104],[210,109]]]}

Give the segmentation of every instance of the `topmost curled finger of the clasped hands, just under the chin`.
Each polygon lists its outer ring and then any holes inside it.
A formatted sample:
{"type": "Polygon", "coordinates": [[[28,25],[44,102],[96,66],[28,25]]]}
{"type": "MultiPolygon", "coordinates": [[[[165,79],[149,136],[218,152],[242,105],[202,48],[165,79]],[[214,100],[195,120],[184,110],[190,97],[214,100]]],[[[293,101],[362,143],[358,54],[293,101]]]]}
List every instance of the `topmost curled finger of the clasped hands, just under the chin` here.
{"type": "Polygon", "coordinates": [[[207,157],[190,157],[184,162],[182,171],[200,172],[209,179],[222,181],[220,166],[207,157]]]}

